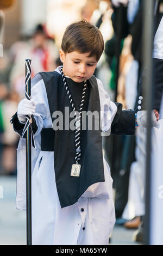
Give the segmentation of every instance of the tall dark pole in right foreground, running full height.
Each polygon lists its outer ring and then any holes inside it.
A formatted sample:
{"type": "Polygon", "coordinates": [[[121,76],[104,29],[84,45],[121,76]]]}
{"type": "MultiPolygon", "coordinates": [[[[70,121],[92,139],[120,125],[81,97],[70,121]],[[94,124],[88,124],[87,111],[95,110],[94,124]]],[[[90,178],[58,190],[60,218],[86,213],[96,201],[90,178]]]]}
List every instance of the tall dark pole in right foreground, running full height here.
{"type": "Polygon", "coordinates": [[[145,245],[150,245],[150,220],[151,220],[151,149],[152,149],[152,100],[153,100],[153,23],[154,23],[154,1],[146,0],[143,3],[143,70],[146,69],[146,76],[143,80],[143,97],[145,109],[148,111],[147,121],[147,143],[146,143],[146,215],[145,215],[145,245]]]}

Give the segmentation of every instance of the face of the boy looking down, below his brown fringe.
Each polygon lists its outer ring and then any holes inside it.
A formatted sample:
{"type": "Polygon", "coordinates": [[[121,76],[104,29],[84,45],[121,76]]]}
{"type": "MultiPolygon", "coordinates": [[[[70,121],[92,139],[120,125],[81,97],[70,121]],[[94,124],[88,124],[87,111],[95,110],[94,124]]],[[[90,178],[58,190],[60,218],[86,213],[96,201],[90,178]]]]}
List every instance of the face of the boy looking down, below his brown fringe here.
{"type": "Polygon", "coordinates": [[[65,53],[62,50],[59,53],[64,75],[70,77],[74,82],[83,82],[93,75],[97,60],[96,57],[88,57],[90,53],[76,51],[65,53]]]}

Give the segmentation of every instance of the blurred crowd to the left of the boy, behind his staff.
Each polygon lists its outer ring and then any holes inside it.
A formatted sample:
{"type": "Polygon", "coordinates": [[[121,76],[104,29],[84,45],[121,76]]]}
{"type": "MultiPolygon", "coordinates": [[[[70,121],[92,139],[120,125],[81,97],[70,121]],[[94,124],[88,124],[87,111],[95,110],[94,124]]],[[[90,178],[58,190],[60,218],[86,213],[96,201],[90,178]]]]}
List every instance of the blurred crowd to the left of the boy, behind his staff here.
{"type": "Polygon", "coordinates": [[[41,24],[29,38],[12,44],[0,59],[1,174],[16,174],[18,136],[10,125],[10,118],[24,97],[24,60],[27,58],[32,59],[32,77],[39,71],[52,71],[60,65],[58,48],[41,24]]]}

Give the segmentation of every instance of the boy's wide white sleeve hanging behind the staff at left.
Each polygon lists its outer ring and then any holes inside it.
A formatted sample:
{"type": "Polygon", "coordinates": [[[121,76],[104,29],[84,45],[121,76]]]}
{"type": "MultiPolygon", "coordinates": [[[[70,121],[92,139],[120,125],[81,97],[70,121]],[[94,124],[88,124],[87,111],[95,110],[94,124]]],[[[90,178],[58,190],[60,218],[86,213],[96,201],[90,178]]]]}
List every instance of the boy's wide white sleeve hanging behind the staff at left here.
{"type": "MultiPolygon", "coordinates": [[[[36,161],[39,157],[41,150],[41,134],[42,128],[52,127],[51,114],[49,112],[48,99],[46,94],[45,84],[40,77],[36,80],[34,77],[32,80],[31,95],[35,101],[36,112],[34,118],[37,125],[37,131],[35,132],[35,145],[32,147],[32,173],[35,168],[36,161]]],[[[19,210],[26,210],[26,139],[21,138],[17,148],[17,189],[16,189],[16,208],[19,210]]]]}

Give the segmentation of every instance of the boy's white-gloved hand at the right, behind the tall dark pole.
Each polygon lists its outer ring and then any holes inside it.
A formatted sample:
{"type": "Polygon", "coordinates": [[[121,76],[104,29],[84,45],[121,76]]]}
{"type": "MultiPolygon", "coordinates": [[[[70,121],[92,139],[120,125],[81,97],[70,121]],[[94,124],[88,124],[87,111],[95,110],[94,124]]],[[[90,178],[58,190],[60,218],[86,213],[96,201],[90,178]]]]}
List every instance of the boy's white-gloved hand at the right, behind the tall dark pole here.
{"type": "MultiPolygon", "coordinates": [[[[137,111],[137,124],[141,131],[144,131],[144,127],[147,128],[147,111],[137,111]]],[[[159,128],[160,123],[156,120],[154,111],[152,111],[152,126],[159,128]]]]}

